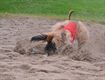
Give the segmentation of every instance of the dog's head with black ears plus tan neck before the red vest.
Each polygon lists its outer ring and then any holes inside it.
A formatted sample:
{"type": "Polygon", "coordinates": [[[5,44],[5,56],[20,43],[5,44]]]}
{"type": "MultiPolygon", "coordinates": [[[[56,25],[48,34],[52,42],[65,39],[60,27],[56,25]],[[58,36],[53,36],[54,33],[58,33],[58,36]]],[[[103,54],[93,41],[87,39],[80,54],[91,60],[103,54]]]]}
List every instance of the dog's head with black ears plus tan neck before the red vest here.
{"type": "Polygon", "coordinates": [[[46,43],[44,49],[48,54],[55,53],[65,41],[65,33],[63,31],[49,32],[45,34],[39,34],[31,38],[31,41],[43,41],[46,43]]]}

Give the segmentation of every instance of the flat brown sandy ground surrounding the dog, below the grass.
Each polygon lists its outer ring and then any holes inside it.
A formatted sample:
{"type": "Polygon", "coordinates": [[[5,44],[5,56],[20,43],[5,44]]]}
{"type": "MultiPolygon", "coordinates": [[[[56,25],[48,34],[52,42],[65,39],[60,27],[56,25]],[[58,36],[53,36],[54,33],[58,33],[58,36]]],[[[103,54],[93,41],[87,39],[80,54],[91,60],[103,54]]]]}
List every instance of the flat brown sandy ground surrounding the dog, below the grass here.
{"type": "Polygon", "coordinates": [[[89,29],[90,40],[82,54],[75,55],[76,58],[14,52],[19,39],[30,39],[37,33],[50,31],[58,21],[0,17],[0,80],[105,80],[105,25],[102,24],[84,22],[89,29]],[[82,59],[84,57],[89,59],[82,59]]]}

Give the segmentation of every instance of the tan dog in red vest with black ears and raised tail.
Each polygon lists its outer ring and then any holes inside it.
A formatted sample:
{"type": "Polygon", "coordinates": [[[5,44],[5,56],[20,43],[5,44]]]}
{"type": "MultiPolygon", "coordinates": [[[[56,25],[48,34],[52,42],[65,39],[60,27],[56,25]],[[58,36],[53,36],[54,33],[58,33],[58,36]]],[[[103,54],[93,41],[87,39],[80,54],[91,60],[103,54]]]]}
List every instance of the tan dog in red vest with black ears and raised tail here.
{"type": "Polygon", "coordinates": [[[76,41],[78,50],[81,49],[89,39],[89,32],[83,22],[70,19],[72,13],[73,11],[69,12],[68,20],[53,25],[51,32],[33,36],[31,42],[47,42],[44,50],[48,56],[67,47],[73,48],[76,41]]]}

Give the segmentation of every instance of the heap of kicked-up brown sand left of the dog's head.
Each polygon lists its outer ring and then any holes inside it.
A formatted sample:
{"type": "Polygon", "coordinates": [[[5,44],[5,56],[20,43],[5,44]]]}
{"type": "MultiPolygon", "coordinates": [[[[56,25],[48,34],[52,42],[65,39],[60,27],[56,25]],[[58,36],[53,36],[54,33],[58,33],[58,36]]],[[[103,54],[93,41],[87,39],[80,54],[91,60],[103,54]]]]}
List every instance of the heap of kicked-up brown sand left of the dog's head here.
{"type": "Polygon", "coordinates": [[[44,54],[44,46],[45,43],[41,41],[31,42],[29,39],[24,39],[17,41],[14,51],[26,55],[44,54]]]}

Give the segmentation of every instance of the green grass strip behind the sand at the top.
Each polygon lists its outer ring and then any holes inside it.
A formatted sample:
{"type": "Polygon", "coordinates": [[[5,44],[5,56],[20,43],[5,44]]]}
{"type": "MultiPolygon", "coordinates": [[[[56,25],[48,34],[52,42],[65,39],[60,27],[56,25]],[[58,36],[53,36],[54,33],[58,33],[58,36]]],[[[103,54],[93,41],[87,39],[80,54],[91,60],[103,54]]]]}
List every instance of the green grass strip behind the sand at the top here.
{"type": "Polygon", "coordinates": [[[105,22],[105,0],[0,0],[0,13],[28,14],[105,22]]]}

